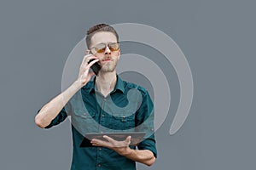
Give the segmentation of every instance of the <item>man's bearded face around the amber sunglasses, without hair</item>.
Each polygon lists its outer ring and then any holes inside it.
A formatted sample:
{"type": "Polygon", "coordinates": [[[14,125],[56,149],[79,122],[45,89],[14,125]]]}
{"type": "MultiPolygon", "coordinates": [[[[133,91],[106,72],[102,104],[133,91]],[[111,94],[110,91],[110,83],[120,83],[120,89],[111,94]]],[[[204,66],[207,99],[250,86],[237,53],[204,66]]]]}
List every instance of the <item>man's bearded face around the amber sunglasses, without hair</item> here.
{"type": "MultiPolygon", "coordinates": [[[[116,37],[112,32],[102,31],[97,32],[93,37],[91,37],[91,47],[95,47],[97,44],[104,43],[108,44],[109,42],[117,42],[116,37]]],[[[120,56],[120,49],[117,51],[111,51],[108,46],[102,53],[95,54],[100,61],[98,62],[102,68],[102,72],[112,72],[115,71],[116,65],[118,63],[118,59],[120,56]]]]}

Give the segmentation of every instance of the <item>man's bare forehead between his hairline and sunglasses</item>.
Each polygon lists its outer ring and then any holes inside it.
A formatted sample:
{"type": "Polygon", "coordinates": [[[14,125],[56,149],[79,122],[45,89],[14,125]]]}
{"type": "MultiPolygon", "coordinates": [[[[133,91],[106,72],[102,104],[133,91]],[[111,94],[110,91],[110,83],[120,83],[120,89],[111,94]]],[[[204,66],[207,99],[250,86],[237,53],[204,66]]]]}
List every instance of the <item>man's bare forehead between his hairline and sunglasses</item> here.
{"type": "Polygon", "coordinates": [[[94,34],[93,37],[91,37],[90,42],[93,47],[98,43],[117,42],[117,39],[112,32],[101,31],[94,34]]]}

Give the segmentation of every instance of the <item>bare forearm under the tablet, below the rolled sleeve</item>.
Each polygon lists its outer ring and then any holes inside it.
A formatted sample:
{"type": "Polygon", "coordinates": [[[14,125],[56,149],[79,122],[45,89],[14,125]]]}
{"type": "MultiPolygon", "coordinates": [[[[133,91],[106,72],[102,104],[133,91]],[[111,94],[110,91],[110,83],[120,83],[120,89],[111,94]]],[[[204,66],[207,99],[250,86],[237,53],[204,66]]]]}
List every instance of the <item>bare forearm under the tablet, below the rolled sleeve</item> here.
{"type": "Polygon", "coordinates": [[[154,154],[150,150],[132,150],[131,148],[127,147],[120,155],[125,156],[132,161],[138,161],[148,166],[153,165],[155,161],[154,154]]]}

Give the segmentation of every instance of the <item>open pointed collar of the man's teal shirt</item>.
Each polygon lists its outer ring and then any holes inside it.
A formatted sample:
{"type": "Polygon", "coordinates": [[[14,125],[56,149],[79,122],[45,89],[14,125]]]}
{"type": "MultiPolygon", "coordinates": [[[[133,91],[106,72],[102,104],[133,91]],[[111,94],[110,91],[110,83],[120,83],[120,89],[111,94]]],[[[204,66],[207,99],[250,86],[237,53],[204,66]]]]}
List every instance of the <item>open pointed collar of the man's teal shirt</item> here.
{"type": "MultiPolygon", "coordinates": [[[[118,75],[116,75],[116,77],[117,77],[116,84],[111,93],[114,93],[117,90],[119,90],[124,94],[125,93],[124,82],[118,75]]],[[[95,82],[96,82],[96,77],[93,77],[93,80],[91,82],[88,82],[83,88],[86,89],[88,93],[91,93],[92,91],[95,92],[95,88],[96,88],[95,82]]]]}

